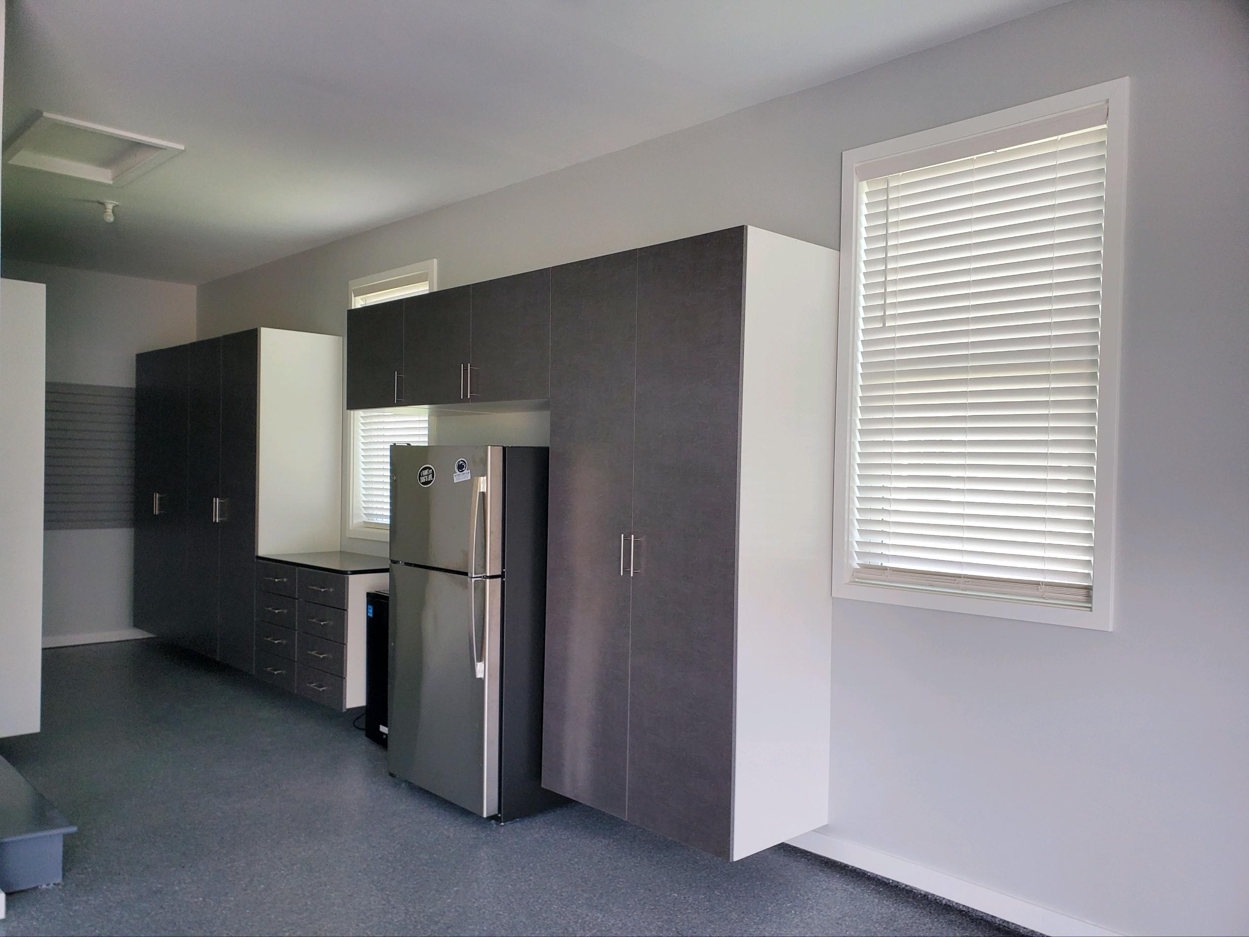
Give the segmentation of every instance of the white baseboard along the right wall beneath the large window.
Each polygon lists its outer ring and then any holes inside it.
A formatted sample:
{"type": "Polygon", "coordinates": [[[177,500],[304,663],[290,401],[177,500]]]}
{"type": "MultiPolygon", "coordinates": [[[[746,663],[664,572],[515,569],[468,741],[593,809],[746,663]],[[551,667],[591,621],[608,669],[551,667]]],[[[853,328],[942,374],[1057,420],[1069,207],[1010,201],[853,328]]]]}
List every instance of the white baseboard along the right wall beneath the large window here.
{"type": "Polygon", "coordinates": [[[884,876],[896,882],[909,885],[940,898],[993,915],[1029,931],[1050,935],[1050,937],[1120,937],[1118,931],[1090,925],[1078,917],[1070,917],[1058,911],[1050,911],[1030,901],[1013,895],[985,888],[983,885],[955,878],[918,862],[891,856],[868,846],[842,840],[818,830],[803,833],[789,841],[791,846],[814,852],[817,856],[844,862],[847,866],[862,868],[864,872],[884,876]]]}

